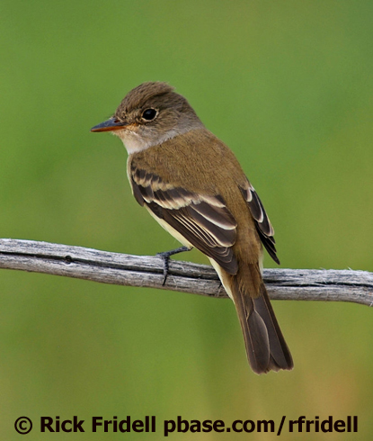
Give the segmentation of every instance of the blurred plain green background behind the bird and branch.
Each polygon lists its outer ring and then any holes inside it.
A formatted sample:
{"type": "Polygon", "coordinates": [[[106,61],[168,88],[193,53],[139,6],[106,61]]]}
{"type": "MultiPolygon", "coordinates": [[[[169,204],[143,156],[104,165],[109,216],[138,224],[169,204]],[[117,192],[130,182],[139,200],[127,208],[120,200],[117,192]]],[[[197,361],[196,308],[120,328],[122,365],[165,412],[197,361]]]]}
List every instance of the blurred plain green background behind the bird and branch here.
{"type": "MultiPolygon", "coordinates": [[[[132,198],[120,140],[89,131],[132,87],[161,80],[235,151],[282,267],[373,271],[371,1],[3,0],[0,16],[1,237],[138,255],[177,247],[132,198]]],[[[358,415],[358,437],[319,437],[371,439],[367,307],[274,302],[295,369],[258,376],[228,300],[7,270],[0,290],[1,439],[21,437],[22,415],[34,420],[28,440],[164,439],[162,420],[178,415],[358,415]],[[57,415],[155,415],[158,426],[93,435],[86,421],[84,434],[42,436],[40,416],[57,415]]],[[[170,439],[247,437],[275,435],[170,439]]],[[[280,438],[295,437],[316,436],[280,438]]]]}

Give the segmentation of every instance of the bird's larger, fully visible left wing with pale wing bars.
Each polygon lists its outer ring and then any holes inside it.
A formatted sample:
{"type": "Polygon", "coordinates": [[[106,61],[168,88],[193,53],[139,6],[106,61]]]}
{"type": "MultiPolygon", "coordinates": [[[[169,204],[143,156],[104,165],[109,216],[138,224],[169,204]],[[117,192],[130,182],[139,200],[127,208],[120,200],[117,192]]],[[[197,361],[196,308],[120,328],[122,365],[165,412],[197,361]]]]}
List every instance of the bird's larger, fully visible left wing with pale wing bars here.
{"type": "Polygon", "coordinates": [[[232,246],[237,223],[220,195],[189,192],[138,167],[130,168],[129,177],[140,205],[146,205],[157,218],[213,258],[228,274],[236,274],[237,261],[232,246]]]}

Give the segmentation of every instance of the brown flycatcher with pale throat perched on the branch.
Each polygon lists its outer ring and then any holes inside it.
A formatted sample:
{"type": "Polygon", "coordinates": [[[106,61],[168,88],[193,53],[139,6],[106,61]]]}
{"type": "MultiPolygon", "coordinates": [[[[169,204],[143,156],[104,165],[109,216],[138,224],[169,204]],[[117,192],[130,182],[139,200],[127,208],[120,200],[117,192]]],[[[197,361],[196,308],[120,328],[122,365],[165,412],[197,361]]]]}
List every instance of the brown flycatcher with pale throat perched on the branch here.
{"type": "Polygon", "coordinates": [[[209,257],[235,303],[253,371],[292,369],[262,281],[262,245],[280,264],[274,231],[232,151],[160,82],[131,90],[92,131],[112,131],[123,141],[138,203],[185,247],[209,257]]]}

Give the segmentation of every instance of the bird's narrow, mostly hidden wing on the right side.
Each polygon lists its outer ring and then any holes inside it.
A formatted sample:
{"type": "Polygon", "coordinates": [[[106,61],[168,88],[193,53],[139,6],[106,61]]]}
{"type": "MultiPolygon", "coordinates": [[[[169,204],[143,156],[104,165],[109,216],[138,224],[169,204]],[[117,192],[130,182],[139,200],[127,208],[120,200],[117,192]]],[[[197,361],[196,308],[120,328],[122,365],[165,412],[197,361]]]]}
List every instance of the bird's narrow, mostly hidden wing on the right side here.
{"type": "Polygon", "coordinates": [[[244,199],[253,215],[255,220],[255,226],[258,231],[259,237],[262,240],[262,244],[268,251],[268,254],[272,259],[280,265],[280,260],[276,256],[275,239],[273,238],[274,229],[271,226],[267,213],[264,210],[262,201],[259,199],[258,194],[255,192],[253,185],[247,181],[244,187],[240,187],[241,192],[244,195],[244,199]]]}

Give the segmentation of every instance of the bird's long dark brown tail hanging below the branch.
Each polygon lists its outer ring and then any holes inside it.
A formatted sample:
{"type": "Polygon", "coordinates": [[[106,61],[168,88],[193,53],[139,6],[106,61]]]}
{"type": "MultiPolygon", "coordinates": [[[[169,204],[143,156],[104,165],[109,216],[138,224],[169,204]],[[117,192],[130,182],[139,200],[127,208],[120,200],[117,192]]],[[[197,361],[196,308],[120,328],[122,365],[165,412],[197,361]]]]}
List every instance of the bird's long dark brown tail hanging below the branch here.
{"type": "Polygon", "coordinates": [[[265,374],[271,370],[290,370],[293,359],[289,347],[282,336],[264,284],[260,296],[247,299],[246,293],[238,292],[235,285],[235,308],[244,333],[247,357],[256,374],[265,374]]]}

